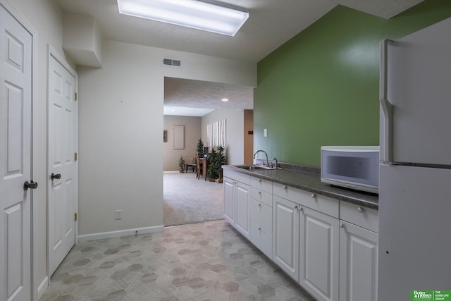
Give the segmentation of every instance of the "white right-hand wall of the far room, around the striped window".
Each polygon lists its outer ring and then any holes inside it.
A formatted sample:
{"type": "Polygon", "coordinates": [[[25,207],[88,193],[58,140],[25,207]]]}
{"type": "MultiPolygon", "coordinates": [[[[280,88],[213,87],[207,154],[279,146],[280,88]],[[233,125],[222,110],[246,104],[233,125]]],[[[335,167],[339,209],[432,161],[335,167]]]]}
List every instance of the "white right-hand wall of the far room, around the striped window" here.
{"type": "MultiPolygon", "coordinates": [[[[226,119],[226,164],[244,164],[244,110],[218,109],[202,117],[202,140],[206,145],[206,125],[226,119]]],[[[209,145],[208,145],[209,146],[209,145]]]]}

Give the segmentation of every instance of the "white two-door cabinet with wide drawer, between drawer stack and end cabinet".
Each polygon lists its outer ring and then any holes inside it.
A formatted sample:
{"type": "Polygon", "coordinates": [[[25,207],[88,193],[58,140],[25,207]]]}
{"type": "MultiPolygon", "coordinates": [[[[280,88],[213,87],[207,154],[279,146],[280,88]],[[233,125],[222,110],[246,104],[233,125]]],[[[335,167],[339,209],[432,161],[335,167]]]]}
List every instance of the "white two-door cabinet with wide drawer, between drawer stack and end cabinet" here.
{"type": "Polygon", "coordinates": [[[273,260],[316,300],[338,301],[337,199],[273,185],[273,260]]]}

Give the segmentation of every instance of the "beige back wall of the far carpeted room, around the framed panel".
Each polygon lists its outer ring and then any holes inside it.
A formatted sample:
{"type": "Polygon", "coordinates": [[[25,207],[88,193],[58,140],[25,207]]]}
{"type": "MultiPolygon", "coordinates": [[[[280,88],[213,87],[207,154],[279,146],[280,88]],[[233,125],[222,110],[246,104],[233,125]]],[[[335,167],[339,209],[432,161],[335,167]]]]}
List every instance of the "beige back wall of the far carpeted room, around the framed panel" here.
{"type": "Polygon", "coordinates": [[[163,170],[178,171],[178,159],[183,156],[185,163],[192,163],[192,157],[196,154],[197,141],[201,137],[201,117],[171,116],[163,117],[163,129],[168,131],[168,142],[163,142],[163,170]],[[185,126],[185,148],[172,149],[172,126],[185,126]]]}

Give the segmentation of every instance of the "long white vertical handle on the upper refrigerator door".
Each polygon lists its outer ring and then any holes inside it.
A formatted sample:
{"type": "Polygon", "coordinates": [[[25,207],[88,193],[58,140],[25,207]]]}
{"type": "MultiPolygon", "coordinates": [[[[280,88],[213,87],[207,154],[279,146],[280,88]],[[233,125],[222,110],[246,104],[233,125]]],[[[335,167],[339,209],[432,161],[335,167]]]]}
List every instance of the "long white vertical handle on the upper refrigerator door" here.
{"type": "Polygon", "coordinates": [[[387,82],[388,82],[388,44],[393,41],[383,39],[380,43],[381,61],[379,68],[379,102],[383,111],[381,130],[381,161],[383,164],[390,164],[392,161],[392,118],[393,105],[388,102],[387,82]]]}

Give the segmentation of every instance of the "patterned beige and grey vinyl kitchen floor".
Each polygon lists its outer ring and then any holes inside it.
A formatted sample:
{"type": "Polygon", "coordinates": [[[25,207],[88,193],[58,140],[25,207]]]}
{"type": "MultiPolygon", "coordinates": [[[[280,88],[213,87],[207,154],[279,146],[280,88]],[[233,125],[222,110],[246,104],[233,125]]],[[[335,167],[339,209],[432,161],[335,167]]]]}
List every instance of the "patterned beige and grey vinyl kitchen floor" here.
{"type": "Polygon", "coordinates": [[[227,221],[80,242],[48,300],[314,300],[227,221]]]}

